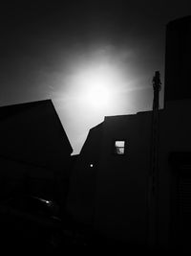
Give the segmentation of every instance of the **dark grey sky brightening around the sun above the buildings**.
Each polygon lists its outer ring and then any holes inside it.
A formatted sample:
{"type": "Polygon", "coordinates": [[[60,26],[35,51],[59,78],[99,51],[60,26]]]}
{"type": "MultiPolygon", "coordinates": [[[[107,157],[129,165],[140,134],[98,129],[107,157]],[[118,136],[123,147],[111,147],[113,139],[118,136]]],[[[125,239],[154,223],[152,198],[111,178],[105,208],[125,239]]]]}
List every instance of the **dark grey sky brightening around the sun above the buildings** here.
{"type": "Polygon", "coordinates": [[[165,27],[191,1],[0,4],[0,105],[52,99],[74,154],[107,115],[150,110],[165,27]],[[102,97],[102,98],[101,98],[102,97]]]}

